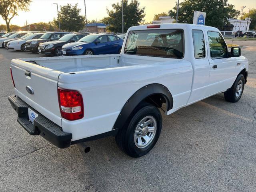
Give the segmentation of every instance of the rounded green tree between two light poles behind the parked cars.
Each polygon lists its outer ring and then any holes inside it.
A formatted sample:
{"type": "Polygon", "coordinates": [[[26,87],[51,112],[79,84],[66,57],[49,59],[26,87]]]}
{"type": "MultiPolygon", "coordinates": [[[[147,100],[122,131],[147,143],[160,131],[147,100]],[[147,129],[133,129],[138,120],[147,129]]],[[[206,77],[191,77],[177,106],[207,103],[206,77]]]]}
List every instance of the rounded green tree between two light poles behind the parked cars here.
{"type": "MultiPolygon", "coordinates": [[[[81,9],[77,8],[77,4],[71,6],[67,4],[60,7],[59,19],[60,28],[65,31],[79,31],[85,26],[84,16],[79,15],[81,9]]],[[[58,19],[54,19],[53,23],[58,26],[58,19]]]]}

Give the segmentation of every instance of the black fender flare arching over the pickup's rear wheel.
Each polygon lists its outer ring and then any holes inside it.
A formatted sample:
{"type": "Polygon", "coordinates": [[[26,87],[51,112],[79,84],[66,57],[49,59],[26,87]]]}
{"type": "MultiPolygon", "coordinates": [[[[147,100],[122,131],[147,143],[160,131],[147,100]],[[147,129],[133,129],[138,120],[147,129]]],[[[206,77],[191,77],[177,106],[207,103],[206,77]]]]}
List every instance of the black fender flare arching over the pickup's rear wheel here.
{"type": "Polygon", "coordinates": [[[166,100],[166,110],[172,109],[173,106],[173,98],[172,94],[162,84],[149,84],[146,85],[142,88],[140,88],[138,91],[136,91],[124,104],[118,118],[116,119],[116,122],[114,124],[113,129],[118,129],[122,128],[128,118],[130,117],[130,114],[133,112],[133,110],[138,106],[142,100],[145,98],[155,95],[155,94],[160,94],[162,95],[165,100],[166,100]]]}

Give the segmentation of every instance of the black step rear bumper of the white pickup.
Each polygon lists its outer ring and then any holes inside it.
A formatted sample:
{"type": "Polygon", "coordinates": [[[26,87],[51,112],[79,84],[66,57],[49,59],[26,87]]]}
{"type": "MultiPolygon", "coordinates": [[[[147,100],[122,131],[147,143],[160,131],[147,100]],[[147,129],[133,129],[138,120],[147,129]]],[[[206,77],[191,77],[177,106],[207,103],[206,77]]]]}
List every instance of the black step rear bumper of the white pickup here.
{"type": "Polygon", "coordinates": [[[8,100],[12,108],[17,112],[18,123],[30,134],[40,135],[58,148],[67,148],[71,144],[72,134],[62,131],[62,128],[48,118],[28,106],[18,96],[9,96],[8,100]],[[28,120],[28,108],[38,114],[34,119],[34,124],[28,120]]]}

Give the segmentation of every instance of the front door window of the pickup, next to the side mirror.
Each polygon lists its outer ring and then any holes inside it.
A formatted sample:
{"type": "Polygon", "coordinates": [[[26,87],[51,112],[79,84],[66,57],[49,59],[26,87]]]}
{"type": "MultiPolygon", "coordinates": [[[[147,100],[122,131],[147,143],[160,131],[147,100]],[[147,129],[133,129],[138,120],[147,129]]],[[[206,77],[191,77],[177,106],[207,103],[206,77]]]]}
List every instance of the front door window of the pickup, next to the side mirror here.
{"type": "Polygon", "coordinates": [[[208,31],[211,58],[225,58],[227,56],[227,45],[221,34],[214,31],[208,31]]]}

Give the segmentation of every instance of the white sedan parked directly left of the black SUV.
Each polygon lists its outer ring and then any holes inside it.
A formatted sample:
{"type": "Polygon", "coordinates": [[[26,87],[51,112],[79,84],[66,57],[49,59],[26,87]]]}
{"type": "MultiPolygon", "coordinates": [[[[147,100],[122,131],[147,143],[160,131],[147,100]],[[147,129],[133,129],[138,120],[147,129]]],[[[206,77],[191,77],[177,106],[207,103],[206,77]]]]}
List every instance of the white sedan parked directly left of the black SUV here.
{"type": "Polygon", "coordinates": [[[29,33],[28,36],[18,39],[18,40],[13,40],[8,42],[7,44],[7,49],[8,50],[21,50],[23,52],[26,52],[26,48],[25,48],[25,43],[27,40],[30,39],[38,39],[43,35],[43,33],[29,33]]]}

